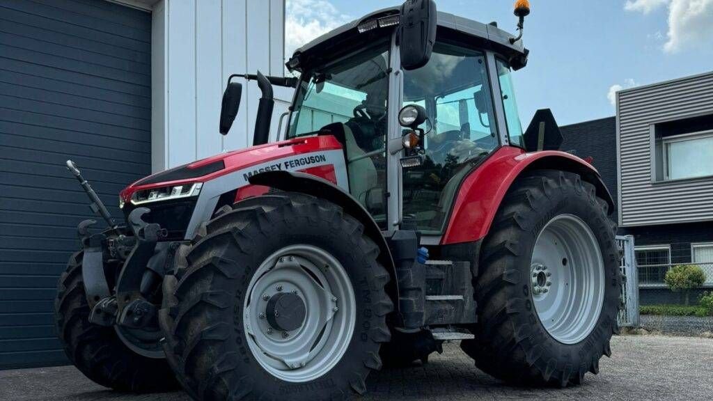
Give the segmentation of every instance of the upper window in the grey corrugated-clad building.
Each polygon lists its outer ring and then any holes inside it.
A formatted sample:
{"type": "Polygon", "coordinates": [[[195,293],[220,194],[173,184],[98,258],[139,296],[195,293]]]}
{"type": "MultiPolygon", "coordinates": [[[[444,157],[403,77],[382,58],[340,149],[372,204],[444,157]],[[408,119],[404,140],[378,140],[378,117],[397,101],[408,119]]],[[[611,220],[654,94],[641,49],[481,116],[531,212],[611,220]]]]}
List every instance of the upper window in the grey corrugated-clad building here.
{"type": "Polygon", "coordinates": [[[713,131],[664,138],[667,180],[713,176],[713,131]]]}

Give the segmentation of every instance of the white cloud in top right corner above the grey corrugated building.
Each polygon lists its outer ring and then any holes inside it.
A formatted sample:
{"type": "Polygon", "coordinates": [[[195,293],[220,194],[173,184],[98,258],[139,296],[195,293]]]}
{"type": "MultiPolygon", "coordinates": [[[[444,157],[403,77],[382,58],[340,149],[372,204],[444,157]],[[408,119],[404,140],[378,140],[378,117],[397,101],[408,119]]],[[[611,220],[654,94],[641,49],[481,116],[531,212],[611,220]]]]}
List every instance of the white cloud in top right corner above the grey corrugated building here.
{"type": "Polygon", "coordinates": [[[627,0],[624,9],[649,14],[668,6],[664,51],[676,53],[713,41],[713,0],[627,0]]]}

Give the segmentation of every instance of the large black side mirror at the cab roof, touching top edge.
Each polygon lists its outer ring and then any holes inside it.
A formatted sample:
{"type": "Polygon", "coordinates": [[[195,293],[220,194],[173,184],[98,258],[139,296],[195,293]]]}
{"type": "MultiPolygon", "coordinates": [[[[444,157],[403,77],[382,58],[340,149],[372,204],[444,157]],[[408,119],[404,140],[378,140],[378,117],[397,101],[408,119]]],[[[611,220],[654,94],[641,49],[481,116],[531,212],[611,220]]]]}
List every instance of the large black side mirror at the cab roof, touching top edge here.
{"type": "Polygon", "coordinates": [[[406,0],[401,6],[401,68],[415,70],[429,62],[436,43],[437,18],[434,0],[406,0]]]}

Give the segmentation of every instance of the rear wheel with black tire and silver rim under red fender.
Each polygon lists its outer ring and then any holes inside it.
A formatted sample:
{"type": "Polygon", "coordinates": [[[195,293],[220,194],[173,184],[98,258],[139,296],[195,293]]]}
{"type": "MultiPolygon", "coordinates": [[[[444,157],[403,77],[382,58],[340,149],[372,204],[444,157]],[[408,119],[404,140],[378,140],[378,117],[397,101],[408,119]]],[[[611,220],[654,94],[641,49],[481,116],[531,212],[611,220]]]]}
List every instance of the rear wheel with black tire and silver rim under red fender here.
{"type": "Polygon", "coordinates": [[[476,366],[515,385],[580,384],[611,355],[620,304],[616,226],[580,176],[532,171],[503,200],[473,280],[476,366]]]}

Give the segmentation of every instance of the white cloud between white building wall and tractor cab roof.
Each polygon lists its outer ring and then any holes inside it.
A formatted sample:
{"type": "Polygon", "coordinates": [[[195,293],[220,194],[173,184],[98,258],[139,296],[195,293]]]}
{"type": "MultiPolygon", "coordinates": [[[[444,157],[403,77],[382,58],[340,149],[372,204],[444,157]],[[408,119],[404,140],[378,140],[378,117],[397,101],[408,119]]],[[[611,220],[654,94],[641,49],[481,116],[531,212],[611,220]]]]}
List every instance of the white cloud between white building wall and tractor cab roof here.
{"type": "Polygon", "coordinates": [[[327,0],[287,0],[284,22],[284,55],[349,21],[327,0]]]}

